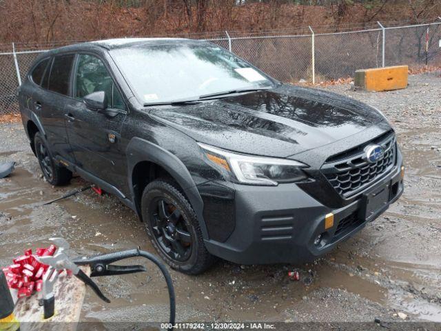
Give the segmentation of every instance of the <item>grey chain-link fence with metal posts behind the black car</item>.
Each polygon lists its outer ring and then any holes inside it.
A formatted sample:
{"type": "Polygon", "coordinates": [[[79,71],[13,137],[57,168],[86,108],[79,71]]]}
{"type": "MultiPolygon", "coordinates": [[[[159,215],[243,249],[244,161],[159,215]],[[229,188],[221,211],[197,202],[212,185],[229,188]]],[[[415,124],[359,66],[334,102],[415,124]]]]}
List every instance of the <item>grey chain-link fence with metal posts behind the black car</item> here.
{"type": "MultiPolygon", "coordinates": [[[[322,34],[310,28],[310,32],[250,37],[225,32],[205,40],[289,83],[348,78],[358,69],[381,66],[441,67],[441,22],[393,28],[378,23],[376,29],[322,34]]],[[[17,88],[34,59],[69,43],[73,42],[0,45],[0,115],[18,112],[17,88]]]]}

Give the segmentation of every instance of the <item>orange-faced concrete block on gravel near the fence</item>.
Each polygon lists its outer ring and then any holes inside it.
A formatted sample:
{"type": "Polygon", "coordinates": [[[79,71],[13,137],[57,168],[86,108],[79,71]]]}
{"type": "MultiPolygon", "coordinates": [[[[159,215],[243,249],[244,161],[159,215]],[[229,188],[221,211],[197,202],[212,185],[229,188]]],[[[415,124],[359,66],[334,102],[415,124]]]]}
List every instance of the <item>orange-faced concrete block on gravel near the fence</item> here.
{"type": "Polygon", "coordinates": [[[400,90],[407,88],[408,71],[408,66],[357,70],[354,84],[367,91],[400,90]]]}

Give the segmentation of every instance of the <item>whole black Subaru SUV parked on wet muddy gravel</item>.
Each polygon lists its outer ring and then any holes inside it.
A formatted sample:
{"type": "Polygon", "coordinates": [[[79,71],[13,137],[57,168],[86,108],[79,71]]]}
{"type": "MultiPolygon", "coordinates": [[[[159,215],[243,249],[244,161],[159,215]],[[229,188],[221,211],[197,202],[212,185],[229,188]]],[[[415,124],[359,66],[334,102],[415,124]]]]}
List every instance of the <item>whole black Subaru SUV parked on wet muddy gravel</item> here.
{"type": "Polygon", "coordinates": [[[19,89],[45,179],[72,172],[145,223],[172,268],[299,263],[403,191],[382,113],[280,83],[212,43],[112,39],[41,54],[19,89]]]}

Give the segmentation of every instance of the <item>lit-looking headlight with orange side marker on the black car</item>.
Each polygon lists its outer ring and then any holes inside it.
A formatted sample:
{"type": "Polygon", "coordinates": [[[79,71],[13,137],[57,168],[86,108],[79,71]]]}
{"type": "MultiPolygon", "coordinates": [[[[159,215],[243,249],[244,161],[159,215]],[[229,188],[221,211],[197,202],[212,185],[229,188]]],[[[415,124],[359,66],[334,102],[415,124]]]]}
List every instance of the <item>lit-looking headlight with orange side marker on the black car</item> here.
{"type": "Polygon", "coordinates": [[[251,157],[198,143],[205,157],[234,181],[254,185],[278,185],[307,179],[307,165],[288,159],[251,157]]]}

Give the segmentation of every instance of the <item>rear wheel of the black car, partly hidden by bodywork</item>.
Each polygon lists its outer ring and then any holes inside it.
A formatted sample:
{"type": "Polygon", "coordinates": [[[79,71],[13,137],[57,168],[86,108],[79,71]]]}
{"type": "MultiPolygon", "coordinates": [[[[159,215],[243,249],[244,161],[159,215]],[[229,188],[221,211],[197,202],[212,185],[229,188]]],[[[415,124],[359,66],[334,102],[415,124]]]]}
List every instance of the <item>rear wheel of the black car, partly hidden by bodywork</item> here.
{"type": "Polygon", "coordinates": [[[41,137],[40,132],[37,132],[34,136],[34,148],[43,176],[48,183],[54,186],[70,183],[72,172],[55,163],[54,159],[52,159],[52,153],[50,152],[47,143],[43,140],[43,137],[41,137]]]}

